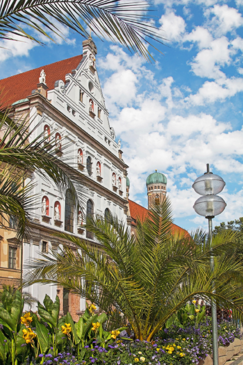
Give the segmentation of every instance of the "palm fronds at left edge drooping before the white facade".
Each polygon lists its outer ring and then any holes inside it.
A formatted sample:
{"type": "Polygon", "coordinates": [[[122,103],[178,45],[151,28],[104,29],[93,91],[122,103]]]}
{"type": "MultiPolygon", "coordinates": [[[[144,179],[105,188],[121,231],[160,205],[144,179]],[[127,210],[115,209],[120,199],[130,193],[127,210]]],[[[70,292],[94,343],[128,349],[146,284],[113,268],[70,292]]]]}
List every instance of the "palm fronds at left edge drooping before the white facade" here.
{"type": "Polygon", "coordinates": [[[54,137],[46,141],[43,134],[33,138],[34,119],[29,115],[9,118],[9,111],[0,111],[0,217],[1,224],[16,230],[21,243],[28,238],[34,210],[39,196],[33,194],[35,184],[30,177],[33,172],[44,179],[51,179],[60,192],[70,191],[73,204],[82,205],[85,196],[82,174],[55,155],[54,137]]]}

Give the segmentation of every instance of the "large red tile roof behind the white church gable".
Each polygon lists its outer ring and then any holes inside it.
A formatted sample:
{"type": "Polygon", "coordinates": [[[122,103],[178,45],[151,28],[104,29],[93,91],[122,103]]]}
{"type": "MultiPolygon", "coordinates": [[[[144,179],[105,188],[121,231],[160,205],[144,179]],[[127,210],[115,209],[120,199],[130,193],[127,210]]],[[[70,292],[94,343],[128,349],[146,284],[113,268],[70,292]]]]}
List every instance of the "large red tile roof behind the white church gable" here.
{"type": "Polygon", "coordinates": [[[46,73],[46,84],[49,90],[54,89],[55,81],[63,80],[65,75],[76,69],[83,55],[74,56],[54,62],[54,64],[38,67],[37,69],[23,72],[0,80],[0,103],[2,107],[7,107],[15,101],[25,99],[31,95],[31,91],[36,89],[39,82],[40,72],[44,69],[46,73]]]}

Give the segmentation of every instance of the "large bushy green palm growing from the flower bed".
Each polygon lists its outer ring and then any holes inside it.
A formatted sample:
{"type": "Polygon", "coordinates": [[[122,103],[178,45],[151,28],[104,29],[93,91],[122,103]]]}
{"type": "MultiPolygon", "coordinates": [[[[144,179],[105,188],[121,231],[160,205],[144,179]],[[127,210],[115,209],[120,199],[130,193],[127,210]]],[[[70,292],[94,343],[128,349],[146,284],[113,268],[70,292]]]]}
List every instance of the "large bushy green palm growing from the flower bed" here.
{"type": "Polygon", "coordinates": [[[110,327],[129,325],[136,338],[151,341],[166,321],[187,301],[215,297],[218,305],[242,316],[242,284],[231,286],[230,278],[242,283],[243,269],[234,255],[235,236],[217,235],[212,249],[203,231],[189,235],[174,231],[171,204],[167,198],[154,205],[148,218],[138,220],[136,237],[118,219],[87,217],[86,229],[99,243],[87,245],[77,237],[58,234],[78,247],[52,251],[53,257],[31,263],[25,285],[52,283],[86,297],[107,312],[110,327]],[[225,253],[210,269],[210,255],[225,253]],[[216,294],[211,290],[215,281],[216,294]],[[234,304],[232,301],[234,300],[234,304]]]}

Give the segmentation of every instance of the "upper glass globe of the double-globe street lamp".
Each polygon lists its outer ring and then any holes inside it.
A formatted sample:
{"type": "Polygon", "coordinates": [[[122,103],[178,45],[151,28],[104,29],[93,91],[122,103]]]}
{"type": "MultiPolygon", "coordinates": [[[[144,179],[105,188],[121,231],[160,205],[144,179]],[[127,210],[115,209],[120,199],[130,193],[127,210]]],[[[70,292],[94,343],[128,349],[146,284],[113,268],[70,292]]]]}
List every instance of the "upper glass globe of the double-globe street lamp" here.
{"type": "Polygon", "coordinates": [[[200,195],[216,195],[223,190],[224,186],[222,177],[211,173],[197,177],[192,185],[195,192],[200,195]]]}

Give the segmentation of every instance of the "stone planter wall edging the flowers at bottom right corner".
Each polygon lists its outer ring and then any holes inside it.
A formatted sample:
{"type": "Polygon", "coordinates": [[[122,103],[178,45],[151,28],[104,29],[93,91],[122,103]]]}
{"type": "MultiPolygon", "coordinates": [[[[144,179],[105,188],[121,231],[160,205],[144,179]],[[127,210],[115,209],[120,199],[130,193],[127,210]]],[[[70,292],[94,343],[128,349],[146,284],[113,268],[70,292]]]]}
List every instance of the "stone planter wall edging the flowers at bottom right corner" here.
{"type": "MultiPolygon", "coordinates": [[[[243,348],[243,340],[235,338],[228,346],[219,346],[219,365],[224,365],[227,360],[230,360],[234,355],[237,355],[243,348]]],[[[212,354],[200,360],[199,365],[213,365],[212,354]]]]}

